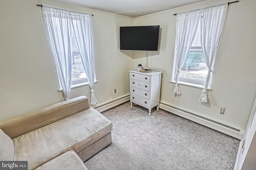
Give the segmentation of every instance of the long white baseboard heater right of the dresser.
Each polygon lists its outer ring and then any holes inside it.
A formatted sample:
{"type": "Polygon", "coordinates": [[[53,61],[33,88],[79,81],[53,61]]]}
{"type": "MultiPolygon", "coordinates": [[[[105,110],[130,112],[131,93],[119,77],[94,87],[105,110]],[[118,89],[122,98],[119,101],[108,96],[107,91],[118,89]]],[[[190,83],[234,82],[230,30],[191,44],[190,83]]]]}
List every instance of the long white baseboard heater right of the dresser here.
{"type": "Polygon", "coordinates": [[[211,129],[214,129],[216,131],[219,131],[221,133],[224,133],[226,135],[229,135],[231,137],[234,137],[236,139],[242,139],[244,136],[244,129],[239,129],[232,127],[230,125],[226,125],[224,123],[220,123],[218,121],[214,121],[212,119],[202,117],[200,115],[197,115],[195,113],[180,109],[178,107],[170,106],[168,104],[164,104],[160,102],[160,109],[163,109],[165,111],[168,111],[170,113],[173,113],[175,115],[178,115],[180,117],[183,117],[185,119],[188,119],[190,121],[194,121],[200,125],[204,125],[206,127],[209,127],[211,129]]]}

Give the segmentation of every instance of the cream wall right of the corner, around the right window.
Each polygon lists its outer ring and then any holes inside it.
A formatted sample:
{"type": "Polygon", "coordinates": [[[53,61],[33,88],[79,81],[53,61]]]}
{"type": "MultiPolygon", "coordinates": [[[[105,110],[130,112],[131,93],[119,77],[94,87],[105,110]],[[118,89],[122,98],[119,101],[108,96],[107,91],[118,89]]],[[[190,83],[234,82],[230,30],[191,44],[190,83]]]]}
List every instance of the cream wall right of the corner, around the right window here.
{"type": "MultiPolygon", "coordinates": [[[[199,102],[202,89],[179,85],[182,95],[175,97],[172,80],[176,16],[173,14],[223,4],[228,0],[208,0],[134,19],[134,25],[160,25],[158,53],[148,52],[148,66],[163,72],[161,102],[245,129],[256,95],[256,1],[241,0],[230,4],[220,37],[214,65],[212,91],[205,106],[199,102]],[[220,108],[225,107],[224,115],[220,108]]],[[[134,68],[146,65],[146,53],[134,53],[134,68]]]]}

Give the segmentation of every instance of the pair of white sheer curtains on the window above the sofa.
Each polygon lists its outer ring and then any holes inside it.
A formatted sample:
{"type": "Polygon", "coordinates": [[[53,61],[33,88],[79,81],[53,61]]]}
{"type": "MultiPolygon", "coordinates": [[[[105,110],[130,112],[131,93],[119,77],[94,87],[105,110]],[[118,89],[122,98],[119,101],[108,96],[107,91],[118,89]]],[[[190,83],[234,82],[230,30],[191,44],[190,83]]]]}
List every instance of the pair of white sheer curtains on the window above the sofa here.
{"type": "Polygon", "coordinates": [[[42,7],[46,34],[66,100],[71,88],[72,31],[74,31],[81,54],[82,64],[88,78],[91,105],[96,105],[94,95],[94,34],[92,15],[42,7]]]}

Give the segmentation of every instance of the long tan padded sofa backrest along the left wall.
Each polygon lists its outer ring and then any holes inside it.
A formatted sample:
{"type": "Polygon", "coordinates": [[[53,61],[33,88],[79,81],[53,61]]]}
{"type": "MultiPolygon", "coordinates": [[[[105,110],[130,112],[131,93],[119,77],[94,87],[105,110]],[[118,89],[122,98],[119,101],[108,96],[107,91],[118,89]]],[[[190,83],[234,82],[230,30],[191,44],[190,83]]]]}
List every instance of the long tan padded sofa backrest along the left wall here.
{"type": "Polygon", "coordinates": [[[80,96],[0,121],[0,129],[13,139],[88,108],[88,98],[80,96]]]}

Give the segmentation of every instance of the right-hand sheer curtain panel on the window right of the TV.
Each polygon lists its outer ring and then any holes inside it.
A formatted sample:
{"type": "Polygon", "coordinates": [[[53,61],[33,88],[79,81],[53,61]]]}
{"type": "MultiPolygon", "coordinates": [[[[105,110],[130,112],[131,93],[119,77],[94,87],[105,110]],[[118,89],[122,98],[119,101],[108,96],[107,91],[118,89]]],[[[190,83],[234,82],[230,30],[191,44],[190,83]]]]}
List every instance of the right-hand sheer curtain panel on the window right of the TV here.
{"type": "Polygon", "coordinates": [[[207,88],[210,85],[214,59],[218,47],[220,34],[228,12],[228,3],[202,9],[201,19],[201,46],[204,60],[208,67],[208,74],[204,83],[204,90],[200,102],[207,102],[207,88]]]}

